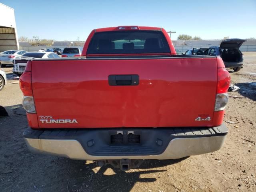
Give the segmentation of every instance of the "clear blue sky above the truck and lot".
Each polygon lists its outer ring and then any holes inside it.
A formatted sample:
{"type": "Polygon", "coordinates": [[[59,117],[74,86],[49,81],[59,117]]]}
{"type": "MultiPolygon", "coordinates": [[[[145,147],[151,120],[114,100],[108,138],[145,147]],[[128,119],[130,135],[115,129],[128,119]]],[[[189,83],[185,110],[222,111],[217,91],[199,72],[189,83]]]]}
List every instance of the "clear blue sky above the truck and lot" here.
{"type": "Polygon", "coordinates": [[[18,36],[86,40],[95,28],[163,27],[202,39],[256,38],[256,0],[0,0],[14,8],[18,36]],[[58,2],[58,3],[57,3],[58,2]]]}

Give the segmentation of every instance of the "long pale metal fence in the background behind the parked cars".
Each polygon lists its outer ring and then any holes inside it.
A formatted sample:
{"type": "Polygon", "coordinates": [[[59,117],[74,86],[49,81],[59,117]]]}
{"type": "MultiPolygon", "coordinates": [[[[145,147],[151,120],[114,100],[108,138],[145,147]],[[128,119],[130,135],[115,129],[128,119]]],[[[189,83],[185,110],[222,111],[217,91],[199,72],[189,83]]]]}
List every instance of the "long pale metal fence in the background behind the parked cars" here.
{"type": "MultiPolygon", "coordinates": [[[[65,48],[66,46],[20,46],[20,50],[24,51],[38,51],[39,49],[49,49],[49,48],[65,48]]],[[[209,47],[209,46],[175,46],[175,49],[181,50],[182,52],[186,52],[186,50],[192,49],[192,48],[202,48],[202,47],[209,47]]],[[[256,51],[256,45],[242,45],[240,47],[240,51],[247,52],[247,51],[256,51]]]]}

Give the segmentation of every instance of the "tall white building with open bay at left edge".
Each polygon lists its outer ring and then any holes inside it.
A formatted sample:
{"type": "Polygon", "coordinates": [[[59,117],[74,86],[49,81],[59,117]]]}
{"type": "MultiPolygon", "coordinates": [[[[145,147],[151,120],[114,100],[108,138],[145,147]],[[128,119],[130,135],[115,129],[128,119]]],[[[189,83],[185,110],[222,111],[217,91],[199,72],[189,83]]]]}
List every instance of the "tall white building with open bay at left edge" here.
{"type": "Polygon", "coordinates": [[[14,9],[0,3],[0,52],[18,48],[14,9]]]}

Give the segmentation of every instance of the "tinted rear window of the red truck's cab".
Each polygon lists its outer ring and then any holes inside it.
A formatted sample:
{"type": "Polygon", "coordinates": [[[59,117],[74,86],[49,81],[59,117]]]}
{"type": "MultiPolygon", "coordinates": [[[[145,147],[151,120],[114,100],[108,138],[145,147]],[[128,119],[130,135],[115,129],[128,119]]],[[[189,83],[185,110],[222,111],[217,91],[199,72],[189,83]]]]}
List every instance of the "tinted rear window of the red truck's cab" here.
{"type": "Polygon", "coordinates": [[[87,54],[170,53],[160,31],[110,31],[95,33],[87,54]]]}

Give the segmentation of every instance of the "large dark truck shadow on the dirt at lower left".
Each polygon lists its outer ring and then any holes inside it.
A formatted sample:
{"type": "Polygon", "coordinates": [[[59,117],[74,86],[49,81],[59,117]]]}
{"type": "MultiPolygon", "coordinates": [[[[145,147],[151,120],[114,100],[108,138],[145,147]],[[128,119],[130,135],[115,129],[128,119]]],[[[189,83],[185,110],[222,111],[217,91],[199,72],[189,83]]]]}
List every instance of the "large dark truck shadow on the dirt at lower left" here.
{"type": "Polygon", "coordinates": [[[145,160],[139,168],[124,172],[110,165],[100,168],[95,162],[33,154],[22,136],[28,123],[21,104],[5,108],[9,116],[0,118],[2,191],[129,192],[137,182],[156,182],[161,172],[168,171],[166,166],[186,159],[145,160]]]}

